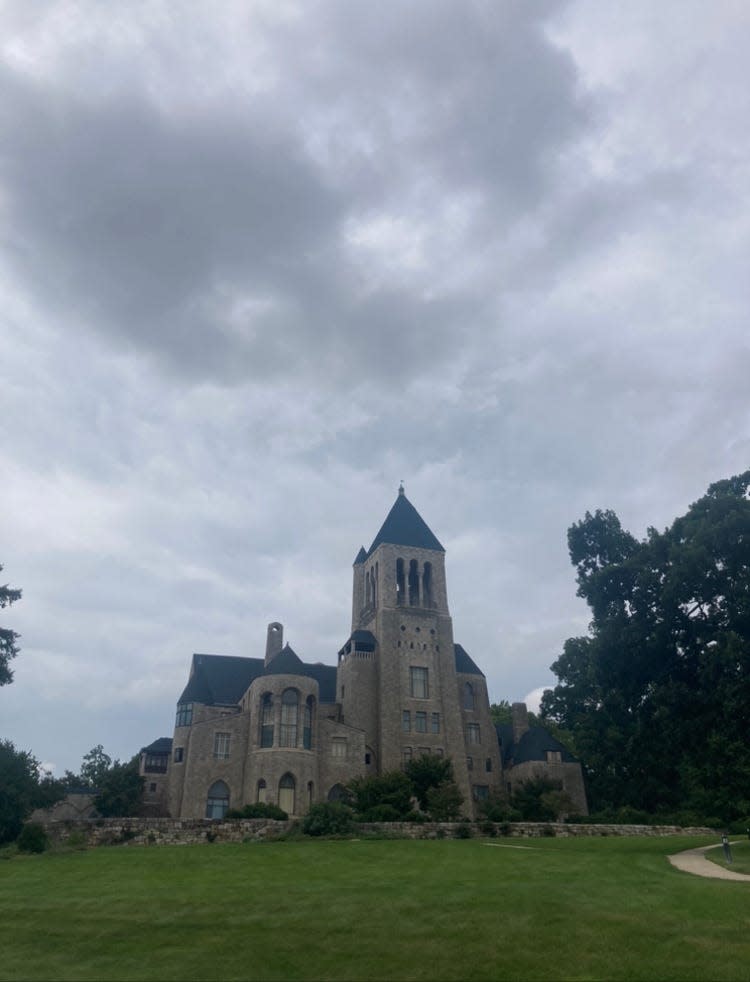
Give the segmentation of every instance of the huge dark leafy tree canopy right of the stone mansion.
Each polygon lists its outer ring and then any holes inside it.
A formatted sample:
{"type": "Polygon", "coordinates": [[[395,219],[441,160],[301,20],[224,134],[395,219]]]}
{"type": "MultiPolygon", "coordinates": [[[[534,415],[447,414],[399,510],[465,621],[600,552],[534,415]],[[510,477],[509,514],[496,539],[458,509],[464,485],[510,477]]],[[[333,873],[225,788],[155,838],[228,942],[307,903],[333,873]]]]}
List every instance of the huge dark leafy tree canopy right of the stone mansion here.
{"type": "Polygon", "coordinates": [[[750,815],[750,471],[639,542],[611,511],[568,533],[593,619],[543,715],[573,732],[594,808],[750,815]]]}

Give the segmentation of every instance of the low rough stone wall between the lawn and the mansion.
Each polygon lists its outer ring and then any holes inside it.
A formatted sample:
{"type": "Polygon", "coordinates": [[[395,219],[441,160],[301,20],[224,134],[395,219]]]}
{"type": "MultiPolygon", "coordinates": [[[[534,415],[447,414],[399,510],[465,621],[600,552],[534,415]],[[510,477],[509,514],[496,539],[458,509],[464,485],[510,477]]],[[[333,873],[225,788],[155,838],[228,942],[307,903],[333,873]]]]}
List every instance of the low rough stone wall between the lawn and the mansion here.
{"type": "MultiPolygon", "coordinates": [[[[190,845],[201,842],[246,842],[272,839],[287,832],[293,822],[267,818],[231,821],[172,818],[104,818],[89,821],[48,822],[45,829],[56,842],[81,845],[190,845]]],[[[363,834],[403,839],[454,839],[475,836],[589,835],[709,835],[716,829],[680,828],[678,825],[567,825],[562,822],[368,822],[356,826],[363,834]]]]}

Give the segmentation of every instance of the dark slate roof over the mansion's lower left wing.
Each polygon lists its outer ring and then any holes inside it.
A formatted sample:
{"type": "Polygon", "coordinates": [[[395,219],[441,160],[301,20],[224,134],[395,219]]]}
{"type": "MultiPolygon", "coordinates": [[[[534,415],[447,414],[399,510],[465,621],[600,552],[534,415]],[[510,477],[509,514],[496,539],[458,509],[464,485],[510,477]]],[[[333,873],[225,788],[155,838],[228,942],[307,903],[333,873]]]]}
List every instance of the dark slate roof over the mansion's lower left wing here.
{"type": "Polygon", "coordinates": [[[320,701],[336,701],[336,668],[309,665],[286,645],[266,669],[262,658],[193,655],[193,673],[178,702],[236,706],[251,682],[261,675],[305,675],[318,683],[320,701]]]}

